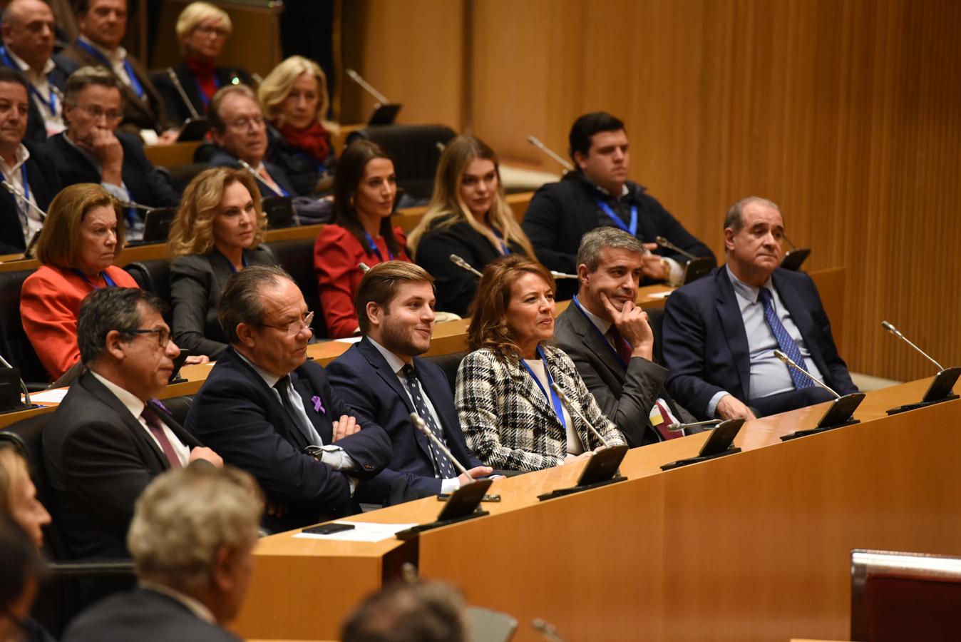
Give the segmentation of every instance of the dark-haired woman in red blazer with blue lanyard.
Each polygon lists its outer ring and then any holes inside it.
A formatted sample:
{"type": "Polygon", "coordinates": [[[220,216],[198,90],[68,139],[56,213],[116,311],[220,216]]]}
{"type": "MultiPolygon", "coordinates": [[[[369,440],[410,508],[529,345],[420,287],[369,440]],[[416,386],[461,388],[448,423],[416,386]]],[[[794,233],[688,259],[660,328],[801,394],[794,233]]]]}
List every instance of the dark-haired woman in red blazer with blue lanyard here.
{"type": "Polygon", "coordinates": [[[333,224],[313,246],[320,304],[331,338],[359,331],[354,296],[359,263],[373,267],[385,260],[407,260],[407,238],[392,227],[390,214],[397,196],[394,161],[369,140],[357,140],[344,151],[333,177],[333,224]]]}

